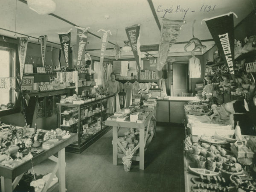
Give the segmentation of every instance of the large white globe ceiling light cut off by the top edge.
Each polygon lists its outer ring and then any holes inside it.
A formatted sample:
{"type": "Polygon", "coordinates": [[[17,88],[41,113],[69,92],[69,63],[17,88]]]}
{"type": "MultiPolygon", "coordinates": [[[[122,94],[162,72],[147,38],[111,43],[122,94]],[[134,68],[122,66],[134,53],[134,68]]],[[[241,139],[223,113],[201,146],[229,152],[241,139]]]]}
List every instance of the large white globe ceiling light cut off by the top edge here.
{"type": "Polygon", "coordinates": [[[49,14],[55,11],[56,3],[53,0],[27,0],[29,9],[39,15],[49,14]]]}

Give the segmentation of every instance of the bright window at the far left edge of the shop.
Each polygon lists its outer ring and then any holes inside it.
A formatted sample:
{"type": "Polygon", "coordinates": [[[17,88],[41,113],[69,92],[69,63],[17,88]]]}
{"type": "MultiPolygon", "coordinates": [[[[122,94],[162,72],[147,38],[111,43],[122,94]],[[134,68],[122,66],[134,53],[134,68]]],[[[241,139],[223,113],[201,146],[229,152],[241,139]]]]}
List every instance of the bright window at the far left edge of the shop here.
{"type": "Polygon", "coordinates": [[[15,49],[0,47],[0,111],[15,108],[15,49]]]}

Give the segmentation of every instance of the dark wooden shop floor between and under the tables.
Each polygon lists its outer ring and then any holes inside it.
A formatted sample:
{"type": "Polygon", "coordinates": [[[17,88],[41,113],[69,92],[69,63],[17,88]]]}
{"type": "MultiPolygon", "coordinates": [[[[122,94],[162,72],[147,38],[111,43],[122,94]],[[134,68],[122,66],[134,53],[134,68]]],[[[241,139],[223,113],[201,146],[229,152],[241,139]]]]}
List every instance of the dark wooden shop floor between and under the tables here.
{"type": "MultiPolygon", "coordinates": [[[[114,166],[111,140],[112,130],[81,154],[66,152],[68,192],[184,192],[183,127],[157,126],[145,154],[144,171],[135,161],[130,172],[124,171],[121,159],[114,166]]],[[[34,170],[44,174],[53,167],[54,163],[46,160],[34,170]]]]}

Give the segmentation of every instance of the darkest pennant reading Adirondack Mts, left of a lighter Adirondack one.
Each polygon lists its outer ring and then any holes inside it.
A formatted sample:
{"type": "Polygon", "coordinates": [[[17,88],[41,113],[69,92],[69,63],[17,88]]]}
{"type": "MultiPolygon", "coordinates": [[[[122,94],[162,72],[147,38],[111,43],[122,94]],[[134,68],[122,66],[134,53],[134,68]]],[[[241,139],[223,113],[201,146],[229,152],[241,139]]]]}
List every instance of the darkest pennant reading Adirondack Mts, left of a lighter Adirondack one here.
{"type": "Polygon", "coordinates": [[[60,41],[61,41],[61,49],[64,54],[64,59],[66,66],[69,67],[69,58],[70,58],[70,38],[72,28],[68,32],[58,33],[60,41]]]}

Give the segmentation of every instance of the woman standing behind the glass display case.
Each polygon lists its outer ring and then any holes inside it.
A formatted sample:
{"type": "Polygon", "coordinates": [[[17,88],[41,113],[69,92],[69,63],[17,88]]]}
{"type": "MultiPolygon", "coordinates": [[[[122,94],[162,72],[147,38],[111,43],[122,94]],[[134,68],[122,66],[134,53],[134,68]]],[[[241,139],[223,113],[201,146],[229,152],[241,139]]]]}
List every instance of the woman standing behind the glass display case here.
{"type": "MultiPolygon", "coordinates": [[[[102,89],[102,91],[105,91],[105,90],[108,90],[109,93],[116,93],[116,111],[120,111],[120,103],[119,103],[119,96],[118,96],[118,93],[119,93],[119,83],[118,81],[116,81],[116,74],[115,73],[111,73],[111,80],[110,81],[107,81],[106,83],[106,87],[104,89],[102,89]]],[[[115,113],[115,110],[114,110],[114,102],[115,102],[115,99],[114,97],[111,97],[108,99],[108,104],[107,104],[107,113],[115,113]]]]}

